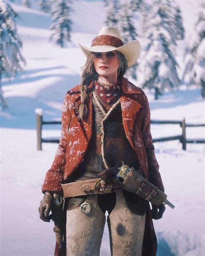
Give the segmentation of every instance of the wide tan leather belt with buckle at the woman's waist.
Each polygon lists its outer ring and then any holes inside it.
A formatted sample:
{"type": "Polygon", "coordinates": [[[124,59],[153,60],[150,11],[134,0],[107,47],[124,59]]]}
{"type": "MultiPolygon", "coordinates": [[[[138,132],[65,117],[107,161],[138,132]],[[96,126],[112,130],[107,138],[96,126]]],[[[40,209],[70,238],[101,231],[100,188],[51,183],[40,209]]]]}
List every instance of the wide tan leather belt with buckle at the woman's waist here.
{"type": "Polygon", "coordinates": [[[123,190],[119,184],[114,182],[113,185],[105,183],[102,179],[95,178],[85,181],[76,181],[61,185],[63,188],[64,198],[75,197],[86,194],[107,194],[123,190]]]}

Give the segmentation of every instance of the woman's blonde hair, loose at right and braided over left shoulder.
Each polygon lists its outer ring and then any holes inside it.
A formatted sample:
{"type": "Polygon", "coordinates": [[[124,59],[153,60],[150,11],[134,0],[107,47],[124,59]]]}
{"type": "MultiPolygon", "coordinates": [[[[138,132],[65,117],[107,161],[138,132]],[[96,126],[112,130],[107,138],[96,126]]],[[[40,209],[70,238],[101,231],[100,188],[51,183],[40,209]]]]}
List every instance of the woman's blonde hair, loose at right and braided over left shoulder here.
{"type": "MultiPolygon", "coordinates": [[[[125,58],[125,56],[121,53],[116,51],[118,55],[119,60],[119,68],[118,68],[118,81],[121,81],[123,75],[125,75],[128,63],[125,58]]],[[[88,85],[91,83],[91,81],[96,80],[98,78],[98,74],[95,71],[93,61],[95,58],[95,53],[90,52],[90,55],[88,55],[85,65],[82,67],[82,75],[81,75],[81,81],[80,81],[80,99],[81,103],[78,110],[78,117],[83,120],[87,116],[87,106],[86,106],[86,100],[88,98],[88,85]]]]}

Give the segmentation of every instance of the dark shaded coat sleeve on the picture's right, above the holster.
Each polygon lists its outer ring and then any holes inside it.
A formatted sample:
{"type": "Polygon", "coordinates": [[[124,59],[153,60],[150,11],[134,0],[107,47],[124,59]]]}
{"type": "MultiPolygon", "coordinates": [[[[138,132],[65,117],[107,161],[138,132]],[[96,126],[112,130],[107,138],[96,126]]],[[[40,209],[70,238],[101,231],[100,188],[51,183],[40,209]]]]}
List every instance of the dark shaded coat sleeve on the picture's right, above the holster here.
{"type": "Polygon", "coordinates": [[[159,172],[159,164],[157,162],[157,159],[154,153],[154,145],[152,143],[150,123],[151,123],[150,107],[147,100],[147,96],[144,94],[144,112],[142,115],[141,134],[142,134],[144,147],[147,153],[149,181],[153,185],[157,186],[159,189],[164,191],[162,179],[159,172]]]}

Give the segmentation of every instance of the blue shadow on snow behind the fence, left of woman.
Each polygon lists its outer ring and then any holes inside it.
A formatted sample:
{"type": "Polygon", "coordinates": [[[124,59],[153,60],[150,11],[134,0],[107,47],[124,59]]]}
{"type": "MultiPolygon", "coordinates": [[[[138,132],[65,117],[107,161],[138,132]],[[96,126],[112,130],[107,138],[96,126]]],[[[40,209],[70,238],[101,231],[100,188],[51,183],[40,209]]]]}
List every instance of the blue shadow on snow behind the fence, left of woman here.
{"type": "MultiPolygon", "coordinates": [[[[61,67],[58,67],[61,68],[61,67]]],[[[42,71],[42,70],[40,70],[42,71]]],[[[34,71],[35,73],[35,71],[34,71]]],[[[42,75],[34,78],[19,78],[19,83],[38,81],[39,79],[52,77],[51,75],[42,75]]],[[[35,129],[35,108],[42,108],[44,120],[60,120],[61,107],[65,94],[80,81],[80,75],[61,75],[55,74],[53,77],[59,77],[59,81],[38,91],[35,97],[12,96],[7,97],[9,107],[1,114],[1,127],[17,129],[35,129]]],[[[18,80],[13,81],[18,83],[18,80]]],[[[41,81],[42,83],[42,81],[41,81]]],[[[47,129],[60,129],[60,126],[50,125],[47,129]]]]}

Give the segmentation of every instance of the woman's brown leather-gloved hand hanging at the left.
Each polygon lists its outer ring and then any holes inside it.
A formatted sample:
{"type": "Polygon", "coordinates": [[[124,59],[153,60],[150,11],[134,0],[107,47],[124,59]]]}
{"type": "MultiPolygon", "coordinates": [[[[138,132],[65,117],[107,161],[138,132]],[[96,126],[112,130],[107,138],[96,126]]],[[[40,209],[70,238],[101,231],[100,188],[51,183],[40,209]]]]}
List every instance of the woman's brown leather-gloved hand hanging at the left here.
{"type": "Polygon", "coordinates": [[[51,214],[49,215],[49,213],[51,211],[52,201],[52,195],[48,192],[45,192],[44,197],[42,198],[42,201],[38,208],[40,219],[45,222],[50,222],[51,220],[51,214]]]}

